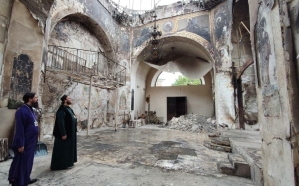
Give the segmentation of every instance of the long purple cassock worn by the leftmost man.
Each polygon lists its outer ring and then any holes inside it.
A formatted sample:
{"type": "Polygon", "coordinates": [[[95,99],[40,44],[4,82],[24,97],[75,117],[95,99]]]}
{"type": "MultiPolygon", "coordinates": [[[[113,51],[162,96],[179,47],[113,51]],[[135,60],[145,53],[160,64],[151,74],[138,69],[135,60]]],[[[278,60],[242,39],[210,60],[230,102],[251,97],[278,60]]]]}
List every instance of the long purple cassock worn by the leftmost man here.
{"type": "Polygon", "coordinates": [[[15,185],[28,185],[33,166],[38,126],[31,106],[24,104],[16,112],[15,134],[12,143],[14,158],[9,169],[8,180],[15,185]],[[23,153],[18,148],[24,147],[23,153]]]}

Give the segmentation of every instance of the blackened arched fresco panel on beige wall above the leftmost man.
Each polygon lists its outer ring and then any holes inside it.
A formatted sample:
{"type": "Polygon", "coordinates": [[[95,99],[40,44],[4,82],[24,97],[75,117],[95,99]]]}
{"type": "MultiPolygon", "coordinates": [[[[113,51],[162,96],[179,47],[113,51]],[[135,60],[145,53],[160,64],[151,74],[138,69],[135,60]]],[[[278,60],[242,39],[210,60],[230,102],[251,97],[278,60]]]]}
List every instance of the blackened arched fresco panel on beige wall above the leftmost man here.
{"type": "Polygon", "coordinates": [[[23,95],[31,92],[33,77],[33,62],[26,54],[14,58],[10,82],[9,109],[16,109],[21,103],[23,95]]]}

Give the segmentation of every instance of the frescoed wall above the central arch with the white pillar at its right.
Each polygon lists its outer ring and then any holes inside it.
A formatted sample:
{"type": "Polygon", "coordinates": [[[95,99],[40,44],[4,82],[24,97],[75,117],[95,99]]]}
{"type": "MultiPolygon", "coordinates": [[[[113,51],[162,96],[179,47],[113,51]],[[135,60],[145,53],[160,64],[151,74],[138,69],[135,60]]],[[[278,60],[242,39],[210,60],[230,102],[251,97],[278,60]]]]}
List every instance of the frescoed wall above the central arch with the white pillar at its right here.
{"type": "MultiPolygon", "coordinates": [[[[229,127],[234,128],[236,111],[234,106],[234,87],[232,84],[230,33],[232,0],[220,3],[211,11],[158,20],[157,25],[161,28],[164,38],[175,35],[194,38],[194,41],[199,41],[208,51],[208,55],[210,55],[209,62],[213,63],[215,61],[214,90],[215,100],[217,100],[215,101],[217,123],[226,123],[229,127]],[[200,23],[200,26],[197,25],[198,23],[200,23]]],[[[148,34],[150,26],[151,24],[148,24],[133,29],[133,47],[135,51],[142,50],[144,43],[150,38],[148,34]]]]}

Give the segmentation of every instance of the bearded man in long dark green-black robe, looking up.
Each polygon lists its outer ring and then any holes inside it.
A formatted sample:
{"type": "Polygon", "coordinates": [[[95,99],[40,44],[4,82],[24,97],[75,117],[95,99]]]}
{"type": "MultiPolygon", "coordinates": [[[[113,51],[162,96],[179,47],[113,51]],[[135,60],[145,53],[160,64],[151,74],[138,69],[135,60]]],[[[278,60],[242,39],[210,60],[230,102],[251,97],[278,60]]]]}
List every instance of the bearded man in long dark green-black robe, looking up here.
{"type": "Polygon", "coordinates": [[[69,107],[71,98],[64,95],[56,113],[53,135],[55,136],[51,170],[63,170],[77,162],[77,118],[69,107]]]}

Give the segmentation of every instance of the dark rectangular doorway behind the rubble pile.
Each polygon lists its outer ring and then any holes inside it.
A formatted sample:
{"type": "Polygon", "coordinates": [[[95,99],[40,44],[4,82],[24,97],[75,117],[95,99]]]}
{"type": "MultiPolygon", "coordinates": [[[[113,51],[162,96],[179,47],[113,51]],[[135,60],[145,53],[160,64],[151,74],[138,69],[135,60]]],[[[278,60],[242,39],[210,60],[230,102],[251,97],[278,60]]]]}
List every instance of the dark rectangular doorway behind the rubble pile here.
{"type": "Polygon", "coordinates": [[[167,97],[167,121],[187,114],[187,97],[167,97]]]}

